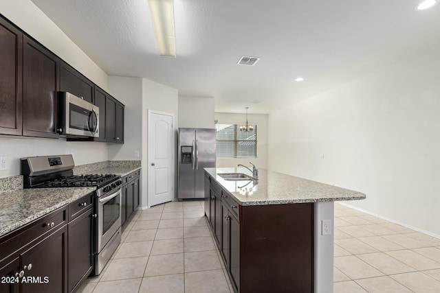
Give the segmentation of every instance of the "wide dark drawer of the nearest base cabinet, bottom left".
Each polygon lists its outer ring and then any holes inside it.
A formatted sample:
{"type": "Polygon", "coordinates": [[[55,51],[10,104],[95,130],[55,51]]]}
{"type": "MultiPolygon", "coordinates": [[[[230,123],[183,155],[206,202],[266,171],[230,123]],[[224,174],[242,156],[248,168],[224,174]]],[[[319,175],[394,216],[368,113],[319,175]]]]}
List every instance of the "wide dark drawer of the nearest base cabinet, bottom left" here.
{"type": "Polygon", "coordinates": [[[64,224],[67,224],[67,205],[4,235],[0,238],[0,261],[12,253],[19,253],[34,240],[56,231],[64,224]]]}

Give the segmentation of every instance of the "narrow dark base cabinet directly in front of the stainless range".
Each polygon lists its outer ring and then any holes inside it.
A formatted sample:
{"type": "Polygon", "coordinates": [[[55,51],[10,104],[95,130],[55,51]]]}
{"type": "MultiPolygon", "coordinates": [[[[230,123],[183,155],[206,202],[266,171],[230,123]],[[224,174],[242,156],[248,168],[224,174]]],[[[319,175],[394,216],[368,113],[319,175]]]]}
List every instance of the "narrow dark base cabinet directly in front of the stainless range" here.
{"type": "Polygon", "coordinates": [[[74,292],[94,269],[94,193],[69,204],[67,292],[74,292]]]}

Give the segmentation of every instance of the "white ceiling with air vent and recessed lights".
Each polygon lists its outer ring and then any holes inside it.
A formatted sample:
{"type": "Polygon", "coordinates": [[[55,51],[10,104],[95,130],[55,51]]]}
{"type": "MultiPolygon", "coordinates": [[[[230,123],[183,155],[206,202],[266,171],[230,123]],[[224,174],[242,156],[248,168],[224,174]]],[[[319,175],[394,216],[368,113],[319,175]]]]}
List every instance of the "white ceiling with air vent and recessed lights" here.
{"type": "Polygon", "coordinates": [[[107,74],[214,97],[216,112],[271,113],[440,44],[440,4],[417,0],[174,0],[177,58],[161,58],[147,0],[32,1],[107,74]]]}

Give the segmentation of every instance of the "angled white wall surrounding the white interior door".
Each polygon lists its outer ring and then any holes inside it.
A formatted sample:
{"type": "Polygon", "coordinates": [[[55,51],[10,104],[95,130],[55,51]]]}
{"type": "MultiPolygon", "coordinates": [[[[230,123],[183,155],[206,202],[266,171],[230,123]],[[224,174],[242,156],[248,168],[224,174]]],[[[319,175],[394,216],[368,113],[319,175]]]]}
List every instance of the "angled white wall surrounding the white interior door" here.
{"type": "MultiPolygon", "coordinates": [[[[175,115],[174,127],[177,130],[179,127],[177,125],[177,89],[142,79],[142,208],[148,206],[148,110],[175,115]]],[[[175,174],[177,174],[177,168],[175,168],[175,174]]],[[[175,195],[176,189],[177,177],[175,176],[175,195]]]]}

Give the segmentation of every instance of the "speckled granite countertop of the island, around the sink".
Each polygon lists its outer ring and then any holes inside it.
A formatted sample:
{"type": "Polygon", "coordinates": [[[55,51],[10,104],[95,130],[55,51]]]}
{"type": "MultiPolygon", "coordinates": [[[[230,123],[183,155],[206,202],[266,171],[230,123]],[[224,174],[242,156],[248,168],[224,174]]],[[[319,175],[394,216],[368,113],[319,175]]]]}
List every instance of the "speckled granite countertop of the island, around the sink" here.
{"type": "Polygon", "coordinates": [[[259,169],[258,183],[252,180],[224,180],[218,175],[221,173],[244,173],[252,176],[252,173],[243,167],[205,168],[205,170],[243,206],[363,200],[366,198],[365,194],[358,191],[266,169],[259,169]]]}

